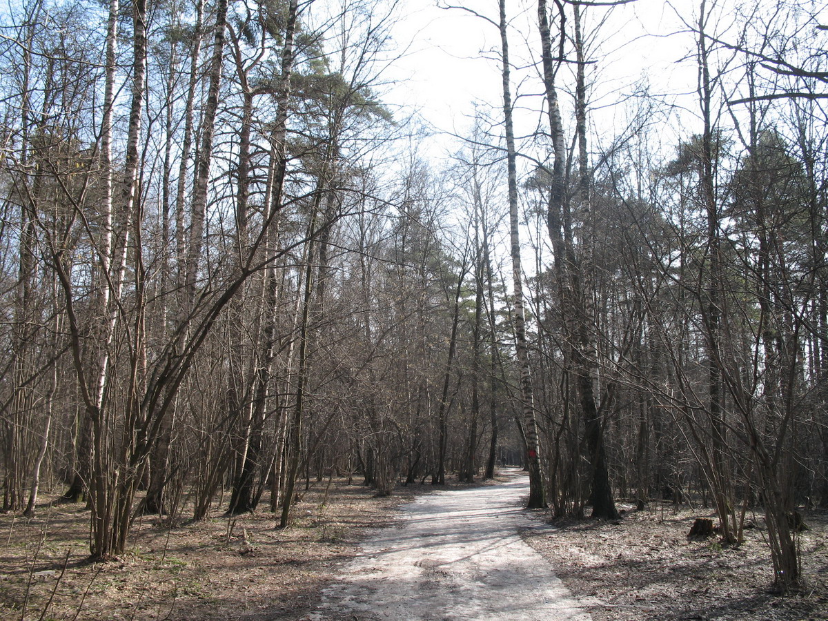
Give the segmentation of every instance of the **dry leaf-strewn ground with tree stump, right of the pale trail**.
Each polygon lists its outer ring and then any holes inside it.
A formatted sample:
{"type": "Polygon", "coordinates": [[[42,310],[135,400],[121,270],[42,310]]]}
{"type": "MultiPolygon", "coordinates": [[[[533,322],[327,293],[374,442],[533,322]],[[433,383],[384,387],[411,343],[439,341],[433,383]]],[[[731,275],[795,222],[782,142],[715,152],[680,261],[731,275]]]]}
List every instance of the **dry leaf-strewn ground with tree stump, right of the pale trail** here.
{"type": "MultiPolygon", "coordinates": [[[[781,597],[760,515],[738,548],[686,536],[710,513],[655,503],[618,523],[556,520],[523,533],[595,621],[828,619],[828,513],[806,513],[799,542],[807,585],[781,597]]],[[[547,522],[543,515],[539,521],[547,522]]]]}

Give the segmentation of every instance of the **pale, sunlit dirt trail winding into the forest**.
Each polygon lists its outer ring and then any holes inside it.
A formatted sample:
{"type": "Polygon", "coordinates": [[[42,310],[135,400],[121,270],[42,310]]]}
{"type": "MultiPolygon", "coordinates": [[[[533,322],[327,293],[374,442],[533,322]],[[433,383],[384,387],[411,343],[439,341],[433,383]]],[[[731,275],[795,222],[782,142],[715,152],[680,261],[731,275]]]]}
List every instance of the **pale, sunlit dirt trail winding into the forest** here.
{"type": "Polygon", "coordinates": [[[522,541],[528,477],[427,494],[363,543],[312,621],[590,621],[551,566],[522,541]]]}

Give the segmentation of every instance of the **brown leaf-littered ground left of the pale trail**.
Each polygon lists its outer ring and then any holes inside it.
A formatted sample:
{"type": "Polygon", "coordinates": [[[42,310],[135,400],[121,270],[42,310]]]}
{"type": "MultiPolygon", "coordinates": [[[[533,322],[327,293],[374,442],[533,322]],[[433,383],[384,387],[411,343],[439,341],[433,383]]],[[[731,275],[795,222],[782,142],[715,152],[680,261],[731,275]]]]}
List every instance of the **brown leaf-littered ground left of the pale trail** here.
{"type": "Polygon", "coordinates": [[[301,619],[368,529],[390,524],[413,495],[373,498],[336,479],[326,493],[326,483],[304,494],[285,531],[272,513],[216,512],[171,530],[142,517],[128,552],[95,565],[83,562],[82,505],[43,506],[28,521],[0,515],[0,619],[301,619]]]}

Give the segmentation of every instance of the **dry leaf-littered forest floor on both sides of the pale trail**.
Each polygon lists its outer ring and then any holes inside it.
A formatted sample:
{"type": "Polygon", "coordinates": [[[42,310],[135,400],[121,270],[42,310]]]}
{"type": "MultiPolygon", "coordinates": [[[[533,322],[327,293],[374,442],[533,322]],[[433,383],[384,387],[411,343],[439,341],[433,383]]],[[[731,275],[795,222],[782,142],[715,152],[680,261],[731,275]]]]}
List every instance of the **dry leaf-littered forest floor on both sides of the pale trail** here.
{"type": "MultiPolygon", "coordinates": [[[[326,483],[305,494],[286,531],[263,512],[216,512],[170,531],[144,517],[128,553],[98,565],[83,563],[89,513],[82,506],[41,506],[28,521],[0,515],[0,619],[306,619],[359,540],[391,524],[399,503],[431,491],[415,485],[373,498],[334,480],[326,496],[326,483]]],[[[523,534],[595,621],[828,619],[828,514],[806,514],[808,588],[788,598],[769,590],[760,516],[744,546],[723,550],[715,540],[686,538],[700,515],[666,506],[628,511],[619,524],[550,524],[548,513],[536,512],[523,534]]]]}

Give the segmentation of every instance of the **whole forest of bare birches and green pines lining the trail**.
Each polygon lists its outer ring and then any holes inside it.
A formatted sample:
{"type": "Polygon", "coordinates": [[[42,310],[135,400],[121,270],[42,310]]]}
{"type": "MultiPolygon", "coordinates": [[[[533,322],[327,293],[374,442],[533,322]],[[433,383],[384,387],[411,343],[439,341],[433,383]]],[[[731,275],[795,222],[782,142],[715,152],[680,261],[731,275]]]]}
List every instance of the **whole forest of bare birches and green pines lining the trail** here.
{"type": "Polygon", "coordinates": [[[669,5],[679,100],[602,45],[645,2],[443,3],[498,99],[440,157],[394,99],[404,2],[0,9],[2,511],[86,503],[106,561],[139,516],[284,528],[313,481],[522,465],[549,517],[693,498],[738,546],[755,510],[796,589],[828,508],[828,16],[669,5]]]}

